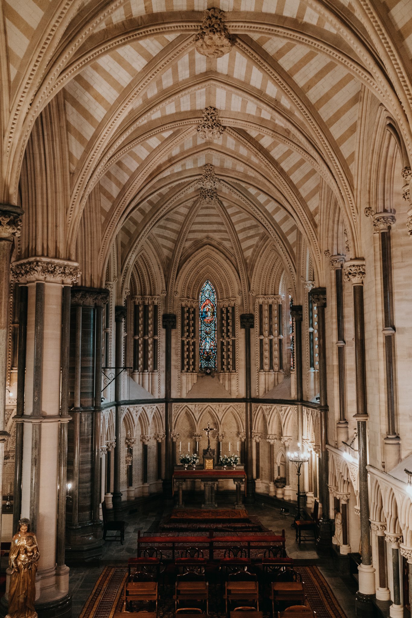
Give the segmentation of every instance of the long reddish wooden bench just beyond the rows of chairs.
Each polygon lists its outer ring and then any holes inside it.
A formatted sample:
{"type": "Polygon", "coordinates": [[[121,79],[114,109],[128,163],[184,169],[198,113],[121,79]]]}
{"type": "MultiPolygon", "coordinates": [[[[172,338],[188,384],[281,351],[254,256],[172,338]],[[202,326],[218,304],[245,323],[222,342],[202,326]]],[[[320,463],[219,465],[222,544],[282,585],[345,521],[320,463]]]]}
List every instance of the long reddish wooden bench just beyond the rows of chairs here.
{"type": "Polygon", "coordinates": [[[268,543],[271,546],[281,546],[282,554],[286,556],[285,549],[285,530],[282,535],[238,535],[238,536],[214,536],[213,530],[209,531],[209,536],[141,536],[140,530],[137,533],[137,555],[147,547],[156,549],[171,549],[172,561],[175,560],[175,551],[187,549],[188,547],[198,547],[199,549],[209,550],[209,562],[214,559],[215,549],[229,549],[232,546],[245,547],[250,558],[251,549],[267,549],[268,543]]]}

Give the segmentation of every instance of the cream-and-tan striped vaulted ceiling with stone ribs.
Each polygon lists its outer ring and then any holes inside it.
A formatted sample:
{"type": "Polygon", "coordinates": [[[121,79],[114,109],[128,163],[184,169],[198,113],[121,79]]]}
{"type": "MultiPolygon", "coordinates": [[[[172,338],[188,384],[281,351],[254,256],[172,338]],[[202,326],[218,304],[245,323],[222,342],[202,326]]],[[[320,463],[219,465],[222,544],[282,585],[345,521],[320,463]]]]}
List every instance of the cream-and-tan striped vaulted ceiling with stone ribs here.
{"type": "Polygon", "coordinates": [[[322,209],[332,207],[356,253],[365,93],[369,106],[385,104],[411,144],[412,2],[3,4],[10,103],[27,106],[22,149],[36,114],[57,91],[64,96],[69,252],[93,192],[102,271],[116,238],[123,273],[146,242],[166,282],[209,243],[251,281],[258,249],[270,241],[293,283],[301,247],[320,268],[322,209]],[[195,44],[212,7],[224,11],[229,33],[221,57],[195,44]],[[23,90],[33,49],[43,72],[23,90]],[[219,137],[198,130],[209,107],[225,127],[219,137]],[[205,164],[217,179],[212,202],[200,198],[205,164]]]}

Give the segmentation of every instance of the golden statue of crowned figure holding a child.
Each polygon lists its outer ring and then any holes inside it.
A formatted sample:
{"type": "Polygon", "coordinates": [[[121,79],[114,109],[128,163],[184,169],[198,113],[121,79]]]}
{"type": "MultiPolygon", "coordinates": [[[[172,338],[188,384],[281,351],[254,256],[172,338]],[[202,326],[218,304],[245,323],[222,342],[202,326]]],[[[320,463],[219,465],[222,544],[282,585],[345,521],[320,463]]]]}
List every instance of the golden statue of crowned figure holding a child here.
{"type": "Polygon", "coordinates": [[[6,618],[37,618],[35,580],[39,558],[36,535],[30,531],[30,522],[20,519],[9,554],[11,577],[6,618]]]}

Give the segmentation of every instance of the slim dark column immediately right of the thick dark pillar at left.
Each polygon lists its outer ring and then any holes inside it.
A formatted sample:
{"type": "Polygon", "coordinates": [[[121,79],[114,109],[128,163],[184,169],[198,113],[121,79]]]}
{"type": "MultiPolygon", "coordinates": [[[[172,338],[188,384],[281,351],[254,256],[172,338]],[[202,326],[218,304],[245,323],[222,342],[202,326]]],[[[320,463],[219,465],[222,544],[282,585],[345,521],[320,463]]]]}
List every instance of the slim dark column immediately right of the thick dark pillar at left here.
{"type": "MultiPolygon", "coordinates": [[[[122,423],[122,406],[120,401],[122,400],[122,371],[123,366],[123,349],[124,349],[124,325],[123,322],[127,316],[127,308],[122,305],[117,305],[114,308],[114,321],[116,323],[116,347],[114,351],[114,357],[116,365],[116,380],[114,382],[114,398],[116,399],[116,412],[115,412],[115,434],[116,444],[114,445],[114,466],[113,466],[113,493],[112,503],[115,510],[119,510],[122,503],[122,493],[120,491],[120,468],[122,452],[122,445],[120,444],[120,432],[122,423]]],[[[116,516],[116,515],[115,515],[116,516]]]]}

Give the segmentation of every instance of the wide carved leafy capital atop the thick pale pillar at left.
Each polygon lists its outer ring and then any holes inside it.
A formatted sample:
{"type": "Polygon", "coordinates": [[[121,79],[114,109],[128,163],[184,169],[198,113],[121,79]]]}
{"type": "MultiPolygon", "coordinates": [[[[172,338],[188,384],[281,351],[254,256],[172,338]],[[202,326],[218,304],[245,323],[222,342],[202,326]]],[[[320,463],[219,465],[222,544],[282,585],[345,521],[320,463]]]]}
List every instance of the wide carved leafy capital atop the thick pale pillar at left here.
{"type": "MultiPolygon", "coordinates": [[[[11,265],[13,280],[19,283],[46,281],[72,286],[80,277],[77,262],[57,258],[27,258],[11,265]]],[[[107,290],[106,290],[106,293],[107,290]]],[[[73,294],[73,291],[72,291],[73,294]]]]}

